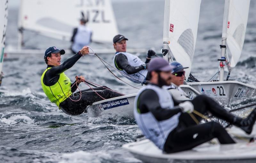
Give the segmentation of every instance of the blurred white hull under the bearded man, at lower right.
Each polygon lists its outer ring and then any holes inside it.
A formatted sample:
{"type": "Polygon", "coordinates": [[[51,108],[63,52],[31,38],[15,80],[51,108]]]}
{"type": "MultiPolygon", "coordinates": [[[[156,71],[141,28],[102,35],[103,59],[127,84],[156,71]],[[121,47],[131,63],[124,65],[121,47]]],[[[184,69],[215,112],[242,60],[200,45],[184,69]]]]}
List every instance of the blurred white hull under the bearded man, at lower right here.
{"type": "Polygon", "coordinates": [[[174,162],[196,162],[196,163],[221,163],[221,162],[256,162],[256,142],[249,142],[250,138],[256,136],[256,126],[250,135],[244,133],[237,127],[227,129],[231,136],[236,137],[236,144],[201,144],[192,150],[177,153],[164,154],[149,139],[124,144],[123,148],[131,152],[136,158],[148,163],[174,163],[174,162]],[[237,139],[237,137],[239,137],[237,139]]]}

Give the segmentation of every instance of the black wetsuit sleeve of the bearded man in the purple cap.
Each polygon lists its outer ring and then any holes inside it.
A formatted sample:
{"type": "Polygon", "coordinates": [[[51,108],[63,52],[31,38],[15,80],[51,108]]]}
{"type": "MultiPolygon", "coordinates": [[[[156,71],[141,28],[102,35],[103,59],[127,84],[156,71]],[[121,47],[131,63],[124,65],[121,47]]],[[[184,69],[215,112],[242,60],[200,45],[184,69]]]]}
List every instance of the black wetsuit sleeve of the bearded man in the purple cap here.
{"type": "Polygon", "coordinates": [[[162,108],[156,92],[152,89],[144,90],[140,94],[138,103],[140,113],[151,112],[158,121],[167,120],[173,115],[181,112],[179,106],[175,106],[173,108],[162,108]]]}

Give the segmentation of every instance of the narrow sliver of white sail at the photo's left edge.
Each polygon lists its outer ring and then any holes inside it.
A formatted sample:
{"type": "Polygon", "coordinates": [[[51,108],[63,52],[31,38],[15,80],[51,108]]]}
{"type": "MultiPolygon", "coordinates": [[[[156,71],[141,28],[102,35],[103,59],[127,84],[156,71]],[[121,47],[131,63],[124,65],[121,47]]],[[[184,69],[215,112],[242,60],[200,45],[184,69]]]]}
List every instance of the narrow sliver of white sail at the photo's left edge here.
{"type": "Polygon", "coordinates": [[[8,0],[0,1],[0,77],[3,69],[4,43],[8,18],[8,0]]]}

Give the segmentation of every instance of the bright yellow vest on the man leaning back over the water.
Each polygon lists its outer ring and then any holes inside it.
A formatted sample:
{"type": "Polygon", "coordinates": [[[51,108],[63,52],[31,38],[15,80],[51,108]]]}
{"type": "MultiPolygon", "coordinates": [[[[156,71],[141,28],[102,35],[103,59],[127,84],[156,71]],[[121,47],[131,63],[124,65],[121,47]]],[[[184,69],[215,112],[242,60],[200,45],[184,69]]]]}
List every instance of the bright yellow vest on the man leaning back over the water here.
{"type": "MultiPolygon", "coordinates": [[[[44,74],[52,67],[47,68],[41,76],[41,85],[44,90],[45,95],[49,98],[52,103],[55,103],[58,107],[62,101],[67,99],[72,92],[71,81],[64,73],[60,74],[58,82],[52,86],[46,86],[43,82],[44,74]],[[69,94],[68,94],[69,93],[69,94]]],[[[60,107],[59,107],[60,108],[60,107]]]]}

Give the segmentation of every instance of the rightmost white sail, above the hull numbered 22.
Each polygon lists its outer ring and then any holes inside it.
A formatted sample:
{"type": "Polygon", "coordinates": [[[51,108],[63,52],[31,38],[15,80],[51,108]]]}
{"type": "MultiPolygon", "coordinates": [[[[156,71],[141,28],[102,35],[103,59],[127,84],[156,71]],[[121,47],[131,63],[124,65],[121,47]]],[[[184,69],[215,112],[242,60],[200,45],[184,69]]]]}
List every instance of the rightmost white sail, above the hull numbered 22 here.
{"type": "Polygon", "coordinates": [[[228,20],[225,22],[226,29],[223,29],[222,31],[227,31],[227,45],[232,54],[231,67],[236,66],[236,63],[241,56],[249,14],[249,6],[250,0],[230,0],[229,7],[227,7],[228,20]]]}

